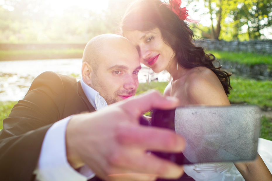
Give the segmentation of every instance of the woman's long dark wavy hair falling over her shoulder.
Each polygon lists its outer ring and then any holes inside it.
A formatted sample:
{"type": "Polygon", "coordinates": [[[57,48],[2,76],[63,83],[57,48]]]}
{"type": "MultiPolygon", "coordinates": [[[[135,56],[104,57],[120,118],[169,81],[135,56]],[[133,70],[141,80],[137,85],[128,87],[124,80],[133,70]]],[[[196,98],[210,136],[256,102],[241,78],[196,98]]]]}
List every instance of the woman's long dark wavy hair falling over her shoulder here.
{"type": "Polygon", "coordinates": [[[192,43],[194,33],[189,25],[180,20],[169,8],[169,4],[160,0],[138,0],[130,4],[121,22],[124,31],[149,31],[158,27],[163,41],[175,52],[178,64],[184,68],[204,66],[211,69],[220,80],[225,93],[230,94],[230,73],[215,67],[212,54],[206,54],[203,47],[192,43]]]}

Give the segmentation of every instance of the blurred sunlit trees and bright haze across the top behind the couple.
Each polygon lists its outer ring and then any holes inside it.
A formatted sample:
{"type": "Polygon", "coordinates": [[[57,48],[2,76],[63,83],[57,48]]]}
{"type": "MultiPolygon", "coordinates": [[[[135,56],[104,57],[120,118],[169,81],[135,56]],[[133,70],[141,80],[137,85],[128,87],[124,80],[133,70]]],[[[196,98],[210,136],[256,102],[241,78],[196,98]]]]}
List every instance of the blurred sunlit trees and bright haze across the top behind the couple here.
{"type": "MultiPolygon", "coordinates": [[[[116,33],[133,0],[0,0],[0,43],[87,43],[116,33]]],[[[225,41],[272,39],[271,0],[183,0],[196,35],[225,41]]]]}

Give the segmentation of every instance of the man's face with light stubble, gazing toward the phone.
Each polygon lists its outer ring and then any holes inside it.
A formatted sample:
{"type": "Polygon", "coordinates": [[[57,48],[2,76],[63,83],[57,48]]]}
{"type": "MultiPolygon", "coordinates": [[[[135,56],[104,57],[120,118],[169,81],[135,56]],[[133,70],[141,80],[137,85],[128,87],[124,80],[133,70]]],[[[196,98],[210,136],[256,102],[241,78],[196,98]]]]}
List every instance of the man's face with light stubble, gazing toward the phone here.
{"type": "Polygon", "coordinates": [[[135,95],[140,69],[139,55],[133,45],[110,47],[101,55],[97,70],[92,73],[91,87],[108,105],[121,101],[135,95]]]}

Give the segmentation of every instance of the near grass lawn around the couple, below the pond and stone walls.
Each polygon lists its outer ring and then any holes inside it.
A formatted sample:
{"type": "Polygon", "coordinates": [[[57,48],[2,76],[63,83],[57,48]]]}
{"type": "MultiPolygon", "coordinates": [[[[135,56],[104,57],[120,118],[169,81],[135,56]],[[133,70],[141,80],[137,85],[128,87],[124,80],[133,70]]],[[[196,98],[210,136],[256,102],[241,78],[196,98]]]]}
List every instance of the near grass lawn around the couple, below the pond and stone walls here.
{"type": "MultiPolygon", "coordinates": [[[[272,82],[246,79],[231,76],[231,86],[229,100],[231,103],[247,103],[259,106],[262,110],[272,108],[272,82]]],[[[139,84],[136,94],[146,92],[149,89],[157,89],[161,93],[168,82],[150,82],[139,84]]],[[[16,101],[0,102],[0,129],[2,129],[3,119],[8,117],[11,108],[16,101]]],[[[260,137],[272,140],[272,115],[261,117],[260,137]]]]}

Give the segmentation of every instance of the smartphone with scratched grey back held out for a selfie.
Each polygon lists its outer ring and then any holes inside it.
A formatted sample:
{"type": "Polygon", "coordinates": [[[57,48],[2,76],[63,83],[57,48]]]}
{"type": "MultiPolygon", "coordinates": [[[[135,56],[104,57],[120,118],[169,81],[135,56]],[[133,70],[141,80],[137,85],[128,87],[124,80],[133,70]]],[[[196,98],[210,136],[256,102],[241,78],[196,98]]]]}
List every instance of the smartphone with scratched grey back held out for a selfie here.
{"type": "Polygon", "coordinates": [[[153,152],[177,164],[250,161],[257,155],[257,106],[193,106],[152,111],[152,126],[174,130],[186,140],[183,153],[153,152]]]}

